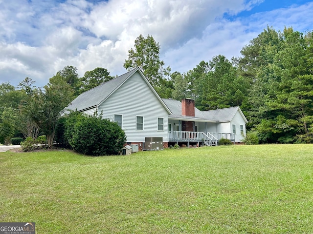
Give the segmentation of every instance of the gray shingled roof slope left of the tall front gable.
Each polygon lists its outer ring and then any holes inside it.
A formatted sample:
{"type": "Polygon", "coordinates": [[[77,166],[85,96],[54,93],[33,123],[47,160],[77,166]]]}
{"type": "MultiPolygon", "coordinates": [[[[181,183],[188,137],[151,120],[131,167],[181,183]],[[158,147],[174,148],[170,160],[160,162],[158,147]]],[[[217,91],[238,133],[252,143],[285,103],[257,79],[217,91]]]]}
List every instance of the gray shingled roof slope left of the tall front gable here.
{"type": "Polygon", "coordinates": [[[113,78],[99,86],[96,86],[75,98],[68,104],[66,109],[83,111],[98,106],[108,98],[127,78],[129,78],[138,69],[134,69],[122,76],[113,78]]]}

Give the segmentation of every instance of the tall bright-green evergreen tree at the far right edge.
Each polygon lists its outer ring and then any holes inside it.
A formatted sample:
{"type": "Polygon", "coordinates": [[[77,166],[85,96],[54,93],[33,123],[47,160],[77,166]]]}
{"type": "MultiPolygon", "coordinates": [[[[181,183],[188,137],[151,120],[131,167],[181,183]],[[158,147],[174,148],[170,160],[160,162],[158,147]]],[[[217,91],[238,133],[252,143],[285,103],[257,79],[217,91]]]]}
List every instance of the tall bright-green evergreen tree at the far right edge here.
{"type": "Polygon", "coordinates": [[[273,62],[278,79],[272,82],[273,98],[267,103],[279,114],[274,129],[283,133],[278,138],[280,142],[296,141],[297,135],[313,142],[313,74],[307,60],[313,54],[309,55],[309,41],[303,34],[285,28],[283,37],[282,48],[273,62]]]}

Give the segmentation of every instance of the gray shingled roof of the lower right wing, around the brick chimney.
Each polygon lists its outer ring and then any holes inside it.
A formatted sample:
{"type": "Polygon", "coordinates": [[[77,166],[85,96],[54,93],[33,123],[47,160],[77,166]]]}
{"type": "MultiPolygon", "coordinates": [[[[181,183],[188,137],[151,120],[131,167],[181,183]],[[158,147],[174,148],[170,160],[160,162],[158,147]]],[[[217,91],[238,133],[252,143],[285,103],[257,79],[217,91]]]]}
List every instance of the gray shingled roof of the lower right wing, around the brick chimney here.
{"type": "Polygon", "coordinates": [[[165,99],[165,98],[163,98],[163,101],[173,113],[172,115],[169,115],[170,118],[172,117],[172,118],[184,118],[184,119],[190,119],[190,120],[227,122],[227,121],[231,121],[232,118],[235,116],[236,112],[239,110],[241,115],[244,117],[246,121],[246,117],[242,114],[238,106],[212,110],[212,111],[200,111],[199,109],[195,107],[195,117],[189,117],[189,116],[181,115],[181,102],[180,101],[173,100],[173,99],[165,99]]]}

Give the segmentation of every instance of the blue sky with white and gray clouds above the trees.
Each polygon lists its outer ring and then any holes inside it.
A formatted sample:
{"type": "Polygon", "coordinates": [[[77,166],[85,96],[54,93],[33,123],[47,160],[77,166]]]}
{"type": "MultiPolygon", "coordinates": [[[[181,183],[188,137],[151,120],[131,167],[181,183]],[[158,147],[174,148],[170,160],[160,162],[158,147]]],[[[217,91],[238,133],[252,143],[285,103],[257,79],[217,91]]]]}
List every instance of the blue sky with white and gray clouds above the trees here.
{"type": "Polygon", "coordinates": [[[0,83],[44,86],[67,65],[80,76],[96,67],[122,75],[140,34],[183,73],[215,55],[240,56],[267,25],[312,31],[312,16],[309,0],[0,0],[0,83]]]}

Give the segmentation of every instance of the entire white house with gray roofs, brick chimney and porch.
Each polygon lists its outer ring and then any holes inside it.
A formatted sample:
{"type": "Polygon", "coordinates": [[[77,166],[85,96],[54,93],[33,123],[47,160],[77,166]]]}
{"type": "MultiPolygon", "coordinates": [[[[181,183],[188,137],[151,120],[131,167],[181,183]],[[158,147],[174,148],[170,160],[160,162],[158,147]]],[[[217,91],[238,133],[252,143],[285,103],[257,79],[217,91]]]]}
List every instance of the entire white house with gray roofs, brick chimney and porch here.
{"type": "Polygon", "coordinates": [[[139,150],[147,139],[161,139],[166,148],[175,143],[214,145],[222,137],[239,142],[246,134],[247,121],[239,107],[200,111],[190,99],[162,99],[139,68],[86,91],[67,109],[117,122],[127,143],[139,150]]]}

